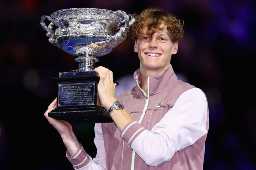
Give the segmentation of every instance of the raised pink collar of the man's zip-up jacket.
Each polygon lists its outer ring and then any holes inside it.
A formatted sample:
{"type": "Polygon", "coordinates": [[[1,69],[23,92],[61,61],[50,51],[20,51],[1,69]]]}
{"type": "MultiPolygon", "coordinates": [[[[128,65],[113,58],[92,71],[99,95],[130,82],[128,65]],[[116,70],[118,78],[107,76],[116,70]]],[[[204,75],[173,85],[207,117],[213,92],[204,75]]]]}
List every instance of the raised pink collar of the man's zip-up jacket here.
{"type": "MultiPolygon", "coordinates": [[[[136,80],[138,80],[138,83],[140,83],[140,68],[136,70],[133,74],[134,80],[136,83],[136,80]]],[[[149,95],[154,95],[162,92],[168,86],[174,85],[174,82],[176,82],[177,76],[175,75],[172,65],[170,64],[163,72],[162,74],[158,76],[150,76],[149,77],[149,95]]],[[[138,87],[138,84],[136,83],[136,86],[132,89],[132,93],[139,93],[143,94],[143,92],[138,87]]]]}

